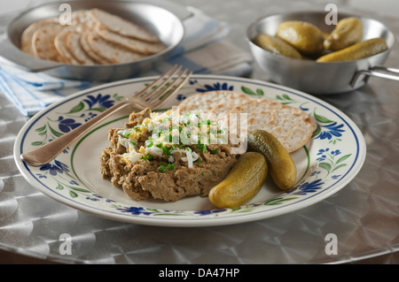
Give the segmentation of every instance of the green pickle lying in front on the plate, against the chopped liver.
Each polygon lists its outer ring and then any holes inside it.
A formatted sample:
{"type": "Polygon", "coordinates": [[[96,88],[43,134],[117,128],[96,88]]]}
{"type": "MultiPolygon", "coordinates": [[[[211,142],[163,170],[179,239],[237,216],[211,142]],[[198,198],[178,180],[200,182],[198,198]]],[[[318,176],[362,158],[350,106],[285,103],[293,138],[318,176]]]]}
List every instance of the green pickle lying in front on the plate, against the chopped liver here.
{"type": "Polygon", "coordinates": [[[246,152],[231,171],[209,191],[209,200],[218,208],[235,208],[254,198],[268,175],[268,164],[262,154],[246,152]]]}

